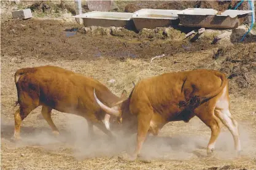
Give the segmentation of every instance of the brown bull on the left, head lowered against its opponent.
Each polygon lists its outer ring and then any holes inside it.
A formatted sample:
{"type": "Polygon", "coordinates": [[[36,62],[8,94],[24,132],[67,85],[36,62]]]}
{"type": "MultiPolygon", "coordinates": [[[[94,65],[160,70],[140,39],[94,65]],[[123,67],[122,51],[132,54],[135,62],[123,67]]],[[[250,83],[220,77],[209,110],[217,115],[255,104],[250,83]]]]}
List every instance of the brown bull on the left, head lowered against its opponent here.
{"type": "MultiPolygon", "coordinates": [[[[20,138],[22,120],[38,106],[42,106],[42,115],[52,128],[53,134],[59,134],[51,118],[51,111],[55,109],[86,118],[90,135],[93,134],[93,125],[95,125],[112,136],[111,131],[107,130],[107,122],[105,122],[106,127],[101,122],[107,116],[96,103],[93,89],[97,91],[99,99],[108,106],[113,106],[120,101],[120,98],[98,80],[56,66],[41,66],[19,69],[15,72],[15,84],[18,94],[17,104],[20,104],[14,115],[16,139],[20,138]],[[17,81],[18,75],[20,79],[17,81]]],[[[122,97],[125,94],[126,91],[123,91],[122,97]]]]}

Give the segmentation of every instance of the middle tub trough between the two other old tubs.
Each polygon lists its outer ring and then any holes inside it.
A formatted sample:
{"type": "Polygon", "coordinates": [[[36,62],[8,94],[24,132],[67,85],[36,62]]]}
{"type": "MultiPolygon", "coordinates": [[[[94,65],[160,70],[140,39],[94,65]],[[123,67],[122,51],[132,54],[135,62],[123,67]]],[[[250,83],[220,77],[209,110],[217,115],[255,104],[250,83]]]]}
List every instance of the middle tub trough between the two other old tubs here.
{"type": "Polygon", "coordinates": [[[181,10],[141,9],[134,12],[133,22],[138,30],[178,25],[179,17],[177,12],[180,11],[181,10]]]}

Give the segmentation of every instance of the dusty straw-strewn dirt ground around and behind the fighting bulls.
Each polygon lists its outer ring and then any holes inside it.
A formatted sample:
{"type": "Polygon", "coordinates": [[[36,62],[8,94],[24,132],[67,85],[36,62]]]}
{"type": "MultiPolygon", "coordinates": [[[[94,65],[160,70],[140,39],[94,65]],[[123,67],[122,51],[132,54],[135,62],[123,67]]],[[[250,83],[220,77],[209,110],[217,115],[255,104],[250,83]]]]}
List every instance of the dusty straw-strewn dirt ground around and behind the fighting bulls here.
{"type": "Polygon", "coordinates": [[[256,169],[256,43],[252,39],[223,47],[207,40],[96,36],[81,29],[56,20],[1,22],[1,169],[256,169]],[[79,31],[67,31],[72,28],[79,31]],[[125,139],[117,136],[114,143],[95,128],[98,135],[92,140],[87,136],[86,120],[53,110],[61,133],[56,138],[41,117],[41,107],[25,118],[22,140],[15,142],[14,72],[46,64],[98,79],[116,95],[123,89],[130,93],[132,81],[164,72],[223,71],[230,84],[231,114],[240,125],[241,157],[235,157],[233,139],[225,127],[214,155],[206,156],[211,131],[193,118],[189,123],[165,125],[158,137],[150,136],[145,142],[141,158],[130,162],[127,154],[134,149],[135,134],[125,139]],[[114,83],[109,82],[112,79],[114,83]]]}

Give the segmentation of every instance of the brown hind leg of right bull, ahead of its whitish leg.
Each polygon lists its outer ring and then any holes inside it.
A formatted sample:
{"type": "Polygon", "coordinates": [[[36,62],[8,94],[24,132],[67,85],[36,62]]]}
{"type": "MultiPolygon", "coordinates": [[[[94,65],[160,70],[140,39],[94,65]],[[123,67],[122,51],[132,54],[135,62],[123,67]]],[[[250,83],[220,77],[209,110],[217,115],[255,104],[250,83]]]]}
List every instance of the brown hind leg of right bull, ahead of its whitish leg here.
{"type": "Polygon", "coordinates": [[[207,155],[211,156],[215,149],[215,142],[220,134],[221,121],[214,115],[214,110],[202,109],[201,112],[196,115],[211,129],[211,138],[207,146],[207,155]]]}

